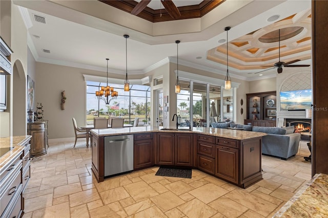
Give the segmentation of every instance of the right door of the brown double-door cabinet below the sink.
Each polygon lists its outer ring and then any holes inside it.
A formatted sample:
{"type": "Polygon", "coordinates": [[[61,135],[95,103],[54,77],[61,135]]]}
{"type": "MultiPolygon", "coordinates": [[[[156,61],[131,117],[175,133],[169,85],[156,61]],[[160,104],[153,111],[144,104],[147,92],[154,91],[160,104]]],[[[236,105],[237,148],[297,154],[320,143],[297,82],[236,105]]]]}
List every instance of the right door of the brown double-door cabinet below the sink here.
{"type": "Polygon", "coordinates": [[[192,134],[175,134],[175,165],[193,166],[192,134]]]}

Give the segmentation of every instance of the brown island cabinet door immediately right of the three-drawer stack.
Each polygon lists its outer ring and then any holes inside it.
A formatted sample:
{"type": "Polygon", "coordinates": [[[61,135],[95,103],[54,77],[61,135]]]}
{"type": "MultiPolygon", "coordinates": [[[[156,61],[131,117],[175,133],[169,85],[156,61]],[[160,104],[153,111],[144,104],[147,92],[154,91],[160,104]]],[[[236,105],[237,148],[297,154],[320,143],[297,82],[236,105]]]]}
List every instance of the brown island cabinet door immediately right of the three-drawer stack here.
{"type": "Polygon", "coordinates": [[[238,184],[239,150],[227,146],[215,146],[215,176],[238,184]]]}

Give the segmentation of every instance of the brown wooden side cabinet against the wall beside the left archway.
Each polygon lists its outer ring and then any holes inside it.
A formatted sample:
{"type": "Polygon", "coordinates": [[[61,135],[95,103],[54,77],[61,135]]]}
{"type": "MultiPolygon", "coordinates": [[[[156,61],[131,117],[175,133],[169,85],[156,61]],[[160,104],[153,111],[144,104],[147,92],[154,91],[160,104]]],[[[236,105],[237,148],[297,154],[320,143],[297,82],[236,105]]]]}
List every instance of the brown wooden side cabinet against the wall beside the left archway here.
{"type": "Polygon", "coordinates": [[[48,120],[27,123],[27,135],[31,135],[31,156],[47,154],[48,120]]]}

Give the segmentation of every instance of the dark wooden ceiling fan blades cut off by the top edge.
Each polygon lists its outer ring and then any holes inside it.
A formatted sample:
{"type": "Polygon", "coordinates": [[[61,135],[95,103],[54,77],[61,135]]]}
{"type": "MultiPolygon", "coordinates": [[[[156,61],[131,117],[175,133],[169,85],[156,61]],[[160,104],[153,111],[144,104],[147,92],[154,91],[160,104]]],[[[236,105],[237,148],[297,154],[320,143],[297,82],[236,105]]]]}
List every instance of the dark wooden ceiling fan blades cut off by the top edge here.
{"type": "MultiPolygon", "coordinates": [[[[131,14],[138,15],[142,10],[144,10],[151,0],[141,0],[131,11],[131,14]]],[[[167,10],[167,12],[173,18],[179,18],[181,16],[179,9],[174,5],[172,0],[160,0],[161,4],[167,10]]]]}

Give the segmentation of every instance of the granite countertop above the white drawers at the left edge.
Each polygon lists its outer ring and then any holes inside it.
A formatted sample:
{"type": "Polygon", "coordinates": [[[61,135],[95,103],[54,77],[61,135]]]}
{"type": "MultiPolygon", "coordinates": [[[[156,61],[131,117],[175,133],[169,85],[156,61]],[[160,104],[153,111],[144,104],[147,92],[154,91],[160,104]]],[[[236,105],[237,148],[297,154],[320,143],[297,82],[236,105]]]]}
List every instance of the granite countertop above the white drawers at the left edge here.
{"type": "Polygon", "coordinates": [[[0,138],[0,148],[13,147],[5,155],[0,157],[0,169],[14,157],[16,157],[19,152],[24,150],[26,142],[31,139],[32,136],[12,136],[7,138],[0,138]]]}

